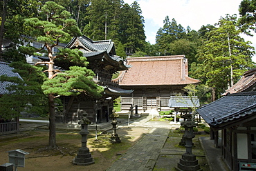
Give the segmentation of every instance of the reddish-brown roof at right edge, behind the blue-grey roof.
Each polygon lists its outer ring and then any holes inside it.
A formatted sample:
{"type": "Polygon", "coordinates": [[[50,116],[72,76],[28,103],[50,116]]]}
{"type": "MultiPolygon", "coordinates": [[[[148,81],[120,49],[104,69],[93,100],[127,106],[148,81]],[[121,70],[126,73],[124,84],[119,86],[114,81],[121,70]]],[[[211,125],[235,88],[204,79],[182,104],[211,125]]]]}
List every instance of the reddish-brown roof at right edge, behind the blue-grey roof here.
{"type": "Polygon", "coordinates": [[[222,95],[228,93],[247,92],[254,90],[256,84],[256,68],[244,72],[244,76],[235,83],[234,86],[225,91],[222,95]]]}

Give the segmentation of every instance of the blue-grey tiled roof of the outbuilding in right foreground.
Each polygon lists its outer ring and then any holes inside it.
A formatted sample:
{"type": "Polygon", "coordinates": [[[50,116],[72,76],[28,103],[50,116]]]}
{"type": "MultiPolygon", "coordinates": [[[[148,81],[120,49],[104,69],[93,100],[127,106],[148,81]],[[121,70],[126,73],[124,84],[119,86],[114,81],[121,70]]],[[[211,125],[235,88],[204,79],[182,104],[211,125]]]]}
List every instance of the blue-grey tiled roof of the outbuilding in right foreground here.
{"type": "Polygon", "coordinates": [[[228,94],[208,105],[203,105],[196,111],[211,126],[236,121],[248,117],[248,115],[255,115],[256,92],[228,94]]]}

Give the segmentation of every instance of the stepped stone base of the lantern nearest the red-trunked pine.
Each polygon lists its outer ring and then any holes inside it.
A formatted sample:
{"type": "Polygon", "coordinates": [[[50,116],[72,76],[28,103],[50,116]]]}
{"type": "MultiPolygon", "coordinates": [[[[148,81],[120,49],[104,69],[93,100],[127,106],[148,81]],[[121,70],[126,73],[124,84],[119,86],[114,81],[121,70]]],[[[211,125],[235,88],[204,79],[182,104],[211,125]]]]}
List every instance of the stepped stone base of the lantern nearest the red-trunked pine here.
{"type": "Polygon", "coordinates": [[[94,160],[91,157],[89,148],[80,148],[78,150],[77,156],[73,159],[73,164],[75,165],[91,165],[94,164],[94,160]]]}

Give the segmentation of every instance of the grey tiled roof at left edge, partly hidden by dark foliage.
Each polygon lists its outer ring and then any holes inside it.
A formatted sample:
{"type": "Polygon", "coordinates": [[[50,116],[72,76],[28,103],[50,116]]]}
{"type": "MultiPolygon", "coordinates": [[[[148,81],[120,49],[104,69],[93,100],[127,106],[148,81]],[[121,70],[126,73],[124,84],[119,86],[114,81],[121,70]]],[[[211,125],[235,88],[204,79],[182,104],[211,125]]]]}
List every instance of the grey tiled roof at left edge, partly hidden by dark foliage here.
{"type": "MultiPolygon", "coordinates": [[[[9,63],[0,62],[0,75],[6,75],[8,77],[19,77],[22,79],[18,73],[12,72],[14,68],[8,66],[8,64],[9,63]]],[[[12,85],[12,83],[7,81],[0,81],[0,94],[10,93],[8,90],[6,90],[6,88],[10,85],[12,85]]]]}

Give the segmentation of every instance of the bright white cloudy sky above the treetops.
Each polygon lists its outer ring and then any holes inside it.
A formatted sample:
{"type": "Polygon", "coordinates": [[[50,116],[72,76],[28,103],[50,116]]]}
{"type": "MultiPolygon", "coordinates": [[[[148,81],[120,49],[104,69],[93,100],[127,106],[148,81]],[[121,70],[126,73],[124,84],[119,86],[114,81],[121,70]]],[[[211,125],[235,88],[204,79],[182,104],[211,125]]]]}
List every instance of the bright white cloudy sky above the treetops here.
{"type": "MultiPolygon", "coordinates": [[[[135,0],[124,0],[131,5],[135,0]]],[[[156,32],[163,28],[166,16],[170,21],[174,18],[183,28],[190,26],[198,31],[201,26],[214,25],[226,14],[237,14],[239,17],[239,4],[241,0],[136,0],[145,19],[146,41],[156,43],[156,32]]],[[[256,49],[256,34],[254,37],[241,35],[246,41],[251,41],[256,49]]],[[[256,55],[253,57],[256,61],[256,55]]]]}

